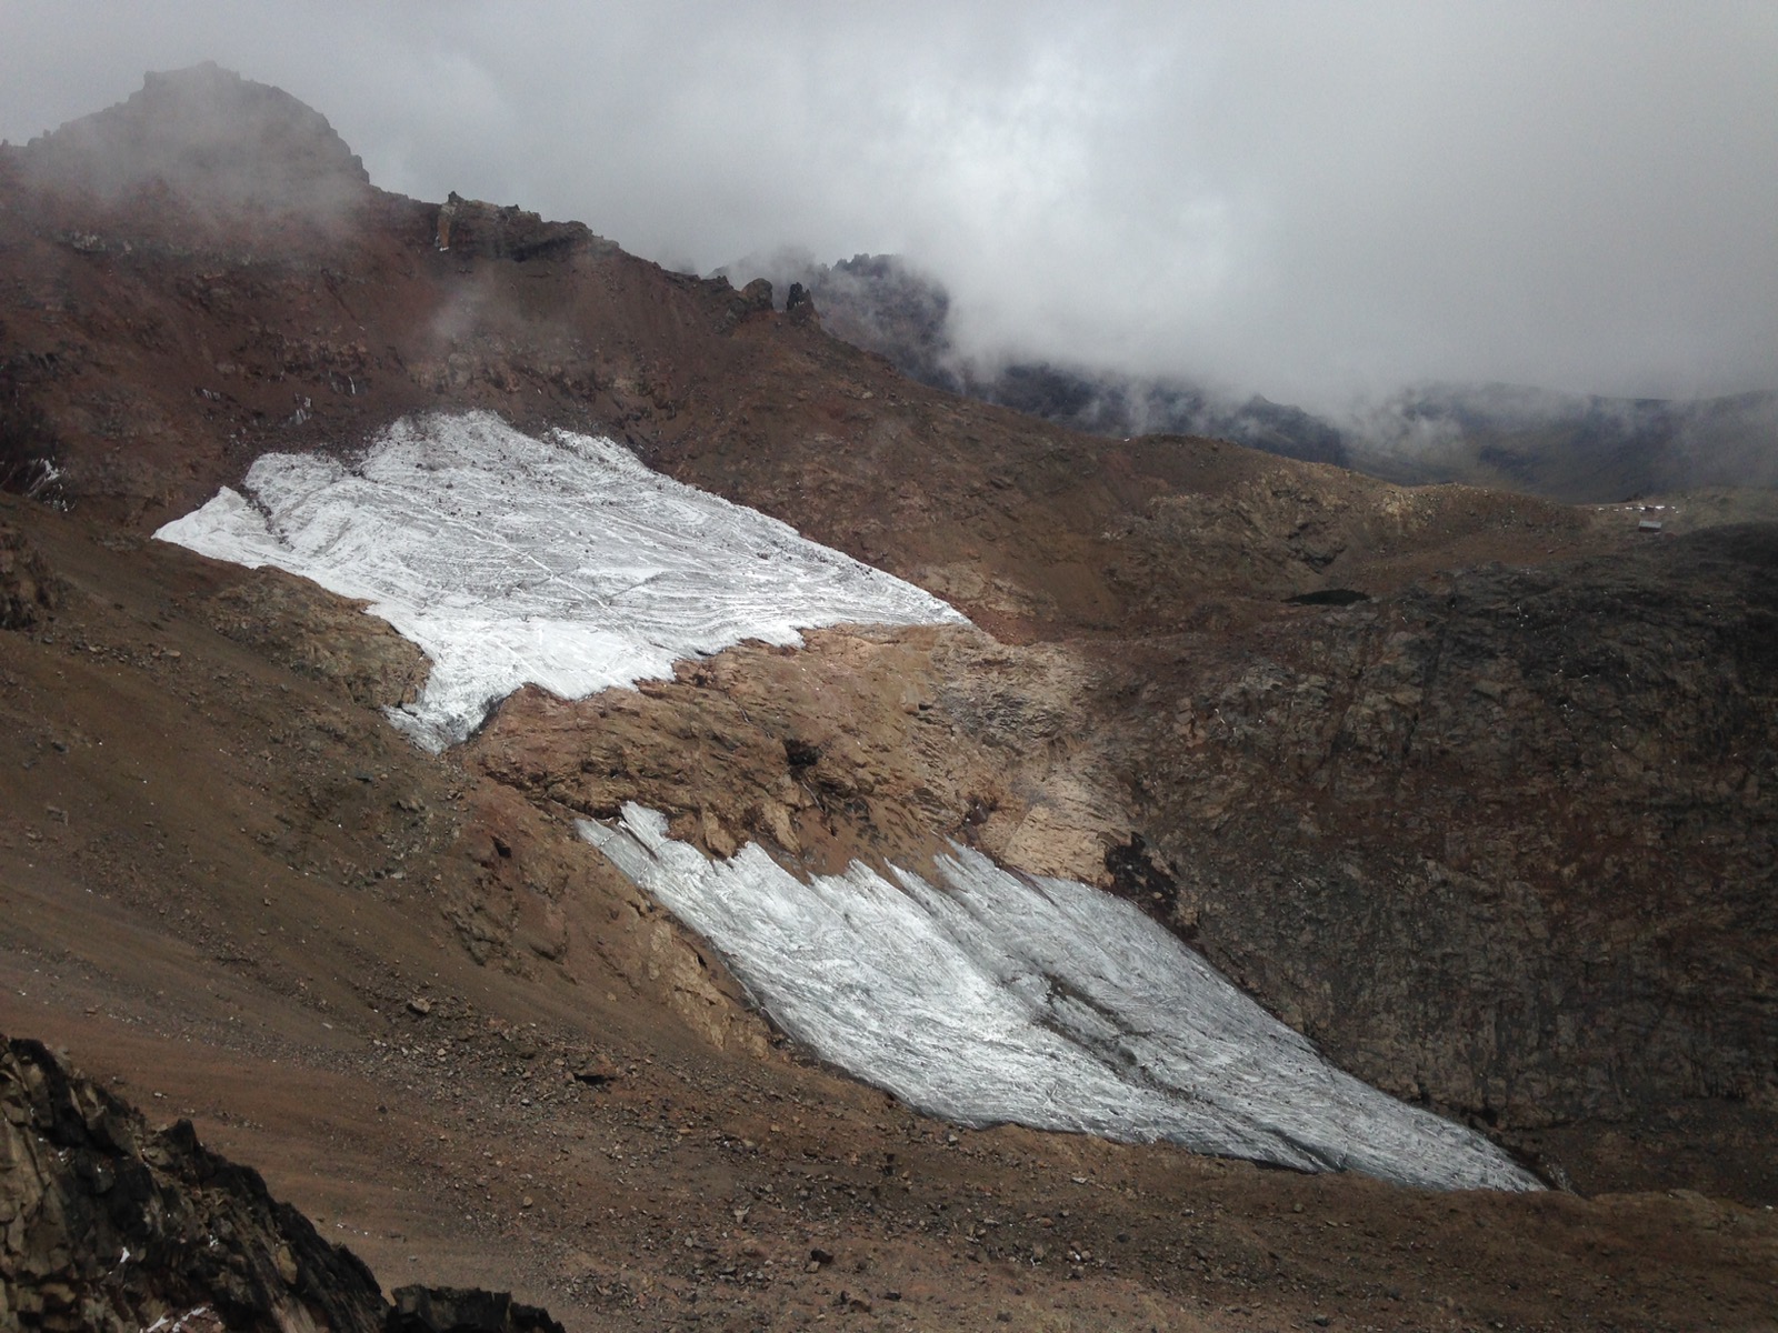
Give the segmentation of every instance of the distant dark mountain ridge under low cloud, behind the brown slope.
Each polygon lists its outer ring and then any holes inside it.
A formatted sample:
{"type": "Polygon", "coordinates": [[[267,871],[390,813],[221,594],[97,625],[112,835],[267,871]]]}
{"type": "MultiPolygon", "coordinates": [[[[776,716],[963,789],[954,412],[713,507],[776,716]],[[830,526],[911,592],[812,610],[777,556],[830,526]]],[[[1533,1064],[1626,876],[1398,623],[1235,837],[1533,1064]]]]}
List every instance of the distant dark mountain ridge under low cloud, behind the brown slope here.
{"type": "Polygon", "coordinates": [[[1460,482],[1565,503],[1712,485],[1778,485],[1778,393],[1609,398],[1513,384],[1405,387],[1341,418],[1182,377],[1131,375],[1017,352],[964,354],[944,286],[893,254],[832,265],[781,254],[727,274],[805,286],[830,332],[905,375],[1095,435],[1186,434],[1401,485],[1460,482]]]}

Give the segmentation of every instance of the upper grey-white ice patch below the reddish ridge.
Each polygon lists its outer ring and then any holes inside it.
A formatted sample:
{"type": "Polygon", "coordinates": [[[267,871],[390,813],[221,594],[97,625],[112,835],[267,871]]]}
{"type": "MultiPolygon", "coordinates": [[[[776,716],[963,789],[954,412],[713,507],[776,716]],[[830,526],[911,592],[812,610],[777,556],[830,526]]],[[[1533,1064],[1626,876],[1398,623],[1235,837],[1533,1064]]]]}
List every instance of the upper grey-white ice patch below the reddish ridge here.
{"type": "Polygon", "coordinates": [[[155,535],[366,599],[432,659],[418,702],[391,709],[428,750],[526,682],[580,698],[747,638],[964,619],[610,439],[487,412],[398,421],[357,462],[268,453],[242,491],[155,535]]]}

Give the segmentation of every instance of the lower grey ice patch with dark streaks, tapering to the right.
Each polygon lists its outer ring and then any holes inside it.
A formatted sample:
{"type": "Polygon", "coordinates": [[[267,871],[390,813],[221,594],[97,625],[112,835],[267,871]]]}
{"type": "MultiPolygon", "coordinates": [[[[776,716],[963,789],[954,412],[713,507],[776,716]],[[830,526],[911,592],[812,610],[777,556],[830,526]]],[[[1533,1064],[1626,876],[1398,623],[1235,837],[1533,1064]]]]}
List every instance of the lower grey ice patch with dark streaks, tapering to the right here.
{"type": "Polygon", "coordinates": [[[1179,1143],[1431,1189],[1538,1189],[1479,1134],[1341,1074],[1129,903],[955,848],[937,883],[709,860],[626,805],[581,837],[816,1056],[964,1125],[1179,1143]]]}

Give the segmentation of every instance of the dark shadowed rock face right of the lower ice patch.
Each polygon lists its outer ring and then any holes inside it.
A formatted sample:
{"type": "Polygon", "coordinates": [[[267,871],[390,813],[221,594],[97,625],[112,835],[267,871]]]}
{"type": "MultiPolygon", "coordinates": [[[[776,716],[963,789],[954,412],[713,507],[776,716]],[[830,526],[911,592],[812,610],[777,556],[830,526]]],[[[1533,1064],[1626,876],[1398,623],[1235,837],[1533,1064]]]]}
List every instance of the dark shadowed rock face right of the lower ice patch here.
{"type": "Polygon", "coordinates": [[[1725,528],[1257,635],[1140,770],[1177,921],[1348,1068],[1486,1123],[1769,1116],[1774,574],[1778,531],[1725,528]]]}

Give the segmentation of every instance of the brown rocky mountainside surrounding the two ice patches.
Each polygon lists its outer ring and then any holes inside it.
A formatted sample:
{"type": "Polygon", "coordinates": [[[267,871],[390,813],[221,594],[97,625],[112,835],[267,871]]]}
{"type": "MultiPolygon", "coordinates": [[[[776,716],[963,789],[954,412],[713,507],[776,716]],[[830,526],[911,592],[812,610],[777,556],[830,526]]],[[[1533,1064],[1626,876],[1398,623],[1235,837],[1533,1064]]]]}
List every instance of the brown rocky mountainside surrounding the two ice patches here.
{"type": "Polygon", "coordinates": [[[1771,1326],[1769,530],[1072,435],[573,224],[197,210],[59,153],[0,153],[0,439],[53,464],[0,501],[0,1029],[384,1283],[573,1328],[1771,1326]],[[375,713],[425,670],[393,631],[148,540],[263,450],[459,407],[610,432],[976,627],[526,690],[432,757],[375,713]],[[624,800],[717,855],[1095,880],[1581,1193],[925,1120],[573,837],[624,800]]]}

